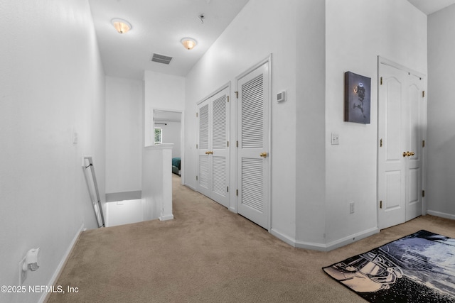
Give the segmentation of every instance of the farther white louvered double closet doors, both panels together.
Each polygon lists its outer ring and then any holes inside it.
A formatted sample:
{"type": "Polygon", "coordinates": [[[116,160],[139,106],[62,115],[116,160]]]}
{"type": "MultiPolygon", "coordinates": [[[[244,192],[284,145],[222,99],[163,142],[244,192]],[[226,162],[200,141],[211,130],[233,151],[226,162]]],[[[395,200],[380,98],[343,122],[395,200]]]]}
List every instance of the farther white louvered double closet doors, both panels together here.
{"type": "Polygon", "coordinates": [[[229,88],[198,105],[198,192],[229,206],[229,88]]]}

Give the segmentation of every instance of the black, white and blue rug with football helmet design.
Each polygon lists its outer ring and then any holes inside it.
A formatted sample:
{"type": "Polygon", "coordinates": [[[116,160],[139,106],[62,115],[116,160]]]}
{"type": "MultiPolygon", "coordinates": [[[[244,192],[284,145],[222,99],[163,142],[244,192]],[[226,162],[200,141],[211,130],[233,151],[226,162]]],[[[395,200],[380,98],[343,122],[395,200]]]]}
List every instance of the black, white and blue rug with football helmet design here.
{"type": "Polygon", "coordinates": [[[455,302],[455,239],[429,231],[323,270],[370,302],[455,302]]]}

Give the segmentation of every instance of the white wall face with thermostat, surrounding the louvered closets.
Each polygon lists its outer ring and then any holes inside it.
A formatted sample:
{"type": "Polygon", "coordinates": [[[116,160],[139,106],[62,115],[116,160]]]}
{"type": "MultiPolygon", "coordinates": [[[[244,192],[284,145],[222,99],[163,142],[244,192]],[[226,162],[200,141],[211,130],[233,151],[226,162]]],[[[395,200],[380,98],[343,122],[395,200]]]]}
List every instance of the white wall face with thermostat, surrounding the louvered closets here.
{"type": "MultiPolygon", "coordinates": [[[[196,188],[196,104],[230,82],[230,141],[235,142],[235,77],[272,53],[272,228],[295,236],[296,6],[293,1],[250,0],[186,77],[185,177],[196,188]],[[288,99],[277,104],[277,92],[288,99]]],[[[231,145],[232,146],[232,145],[231,145]]],[[[235,149],[230,150],[230,187],[235,188],[235,149]]],[[[230,208],[236,209],[235,190],[230,208]]]]}

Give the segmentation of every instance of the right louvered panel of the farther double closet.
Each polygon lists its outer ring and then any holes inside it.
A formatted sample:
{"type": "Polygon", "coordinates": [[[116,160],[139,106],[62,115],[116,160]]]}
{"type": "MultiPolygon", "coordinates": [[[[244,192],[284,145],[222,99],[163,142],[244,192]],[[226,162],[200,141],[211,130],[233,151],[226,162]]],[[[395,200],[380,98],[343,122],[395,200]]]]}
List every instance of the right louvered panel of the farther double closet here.
{"type": "Polygon", "coordinates": [[[212,187],[210,198],[223,206],[229,207],[229,148],[228,148],[228,88],[215,94],[212,101],[212,136],[211,154],[212,187]]]}

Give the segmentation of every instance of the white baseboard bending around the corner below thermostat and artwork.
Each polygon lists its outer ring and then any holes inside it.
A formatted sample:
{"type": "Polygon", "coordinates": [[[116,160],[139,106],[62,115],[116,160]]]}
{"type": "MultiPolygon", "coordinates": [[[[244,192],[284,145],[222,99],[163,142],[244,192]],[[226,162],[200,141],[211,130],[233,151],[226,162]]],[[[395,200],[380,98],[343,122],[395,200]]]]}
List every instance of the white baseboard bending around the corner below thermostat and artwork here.
{"type": "Polygon", "coordinates": [[[276,236],[281,241],[288,243],[290,246],[293,246],[295,248],[304,248],[304,249],[319,250],[319,251],[334,250],[336,248],[340,248],[341,246],[345,246],[345,245],[348,245],[355,241],[359,241],[363,238],[373,236],[375,233],[379,233],[379,231],[380,231],[379,228],[374,227],[374,228],[367,229],[366,231],[362,231],[360,233],[355,233],[355,234],[347,236],[345,238],[341,238],[341,239],[338,239],[331,243],[325,244],[325,243],[312,243],[312,242],[296,241],[296,239],[291,238],[287,235],[284,235],[283,233],[280,233],[279,231],[276,231],[273,228],[270,229],[270,233],[272,233],[273,236],[276,236]]]}

